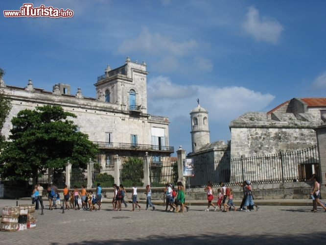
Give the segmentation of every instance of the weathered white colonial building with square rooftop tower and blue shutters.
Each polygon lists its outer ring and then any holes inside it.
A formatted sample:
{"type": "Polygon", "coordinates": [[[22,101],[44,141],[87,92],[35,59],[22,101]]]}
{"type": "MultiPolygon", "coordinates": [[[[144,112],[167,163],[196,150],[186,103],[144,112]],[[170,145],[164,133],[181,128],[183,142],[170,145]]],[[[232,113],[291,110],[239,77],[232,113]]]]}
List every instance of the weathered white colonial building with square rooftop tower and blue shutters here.
{"type": "Polygon", "coordinates": [[[148,152],[154,159],[169,158],[174,148],[169,146],[169,120],[167,117],[147,113],[146,64],[133,62],[127,57],[125,64],[97,77],[96,97],[84,97],[80,88],[71,94],[70,85],[58,83],[53,91],[34,87],[31,79],[25,88],[7,85],[0,88],[11,98],[12,109],[4,123],[2,134],[8,137],[11,119],[24,109],[35,106],[59,105],[77,115],[73,119],[78,130],[100,148],[98,162],[112,165],[120,160],[141,156],[148,152]]]}

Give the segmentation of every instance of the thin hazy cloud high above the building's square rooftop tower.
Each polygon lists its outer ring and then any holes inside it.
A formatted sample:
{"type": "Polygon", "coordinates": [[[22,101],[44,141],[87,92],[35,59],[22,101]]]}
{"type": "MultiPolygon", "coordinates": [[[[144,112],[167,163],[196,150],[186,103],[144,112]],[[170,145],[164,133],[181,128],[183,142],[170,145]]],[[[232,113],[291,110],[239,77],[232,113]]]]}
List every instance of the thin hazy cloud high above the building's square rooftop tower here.
{"type": "Polygon", "coordinates": [[[123,54],[140,51],[147,54],[185,55],[189,50],[198,46],[196,40],[177,42],[160,33],[151,33],[148,28],[143,27],[138,37],[123,41],[117,51],[123,54]]]}

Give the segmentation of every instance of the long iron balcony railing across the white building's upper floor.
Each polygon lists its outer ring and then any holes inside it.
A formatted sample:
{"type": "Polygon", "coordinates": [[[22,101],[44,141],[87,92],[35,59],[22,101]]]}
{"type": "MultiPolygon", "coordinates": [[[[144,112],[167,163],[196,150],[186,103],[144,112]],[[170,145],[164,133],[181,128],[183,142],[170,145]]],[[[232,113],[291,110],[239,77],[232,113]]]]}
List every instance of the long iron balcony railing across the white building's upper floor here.
{"type": "Polygon", "coordinates": [[[126,150],[146,150],[146,151],[165,151],[174,152],[174,147],[163,147],[142,144],[113,143],[113,142],[93,142],[102,149],[126,149],[126,150]]]}

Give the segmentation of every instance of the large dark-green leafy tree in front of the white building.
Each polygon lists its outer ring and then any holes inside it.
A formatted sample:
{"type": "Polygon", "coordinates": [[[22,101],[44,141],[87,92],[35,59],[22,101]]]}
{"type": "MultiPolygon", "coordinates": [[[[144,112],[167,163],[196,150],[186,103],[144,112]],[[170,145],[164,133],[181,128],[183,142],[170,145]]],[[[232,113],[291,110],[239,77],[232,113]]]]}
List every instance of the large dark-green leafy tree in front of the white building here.
{"type": "Polygon", "coordinates": [[[2,177],[36,181],[47,168],[63,169],[68,160],[73,168],[85,168],[89,159],[95,158],[98,147],[87,134],[77,131],[69,117],[77,116],[60,106],[20,111],[11,120],[12,142],[0,155],[2,177]]]}

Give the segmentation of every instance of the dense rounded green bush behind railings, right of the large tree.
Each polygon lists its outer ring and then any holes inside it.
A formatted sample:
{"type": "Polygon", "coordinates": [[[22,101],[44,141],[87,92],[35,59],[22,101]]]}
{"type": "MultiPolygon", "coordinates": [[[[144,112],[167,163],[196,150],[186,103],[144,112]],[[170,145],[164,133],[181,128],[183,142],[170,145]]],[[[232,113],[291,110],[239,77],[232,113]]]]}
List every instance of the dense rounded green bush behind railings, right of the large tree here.
{"type": "Polygon", "coordinates": [[[126,187],[131,187],[135,182],[137,186],[143,185],[144,162],[141,158],[130,157],[122,165],[121,183],[126,187]]]}

